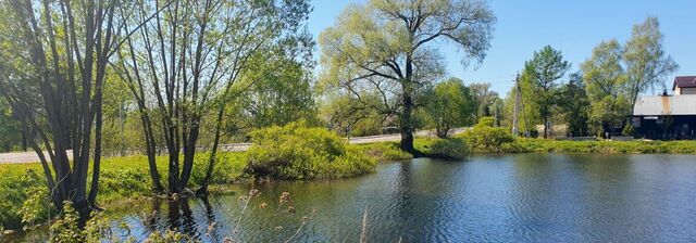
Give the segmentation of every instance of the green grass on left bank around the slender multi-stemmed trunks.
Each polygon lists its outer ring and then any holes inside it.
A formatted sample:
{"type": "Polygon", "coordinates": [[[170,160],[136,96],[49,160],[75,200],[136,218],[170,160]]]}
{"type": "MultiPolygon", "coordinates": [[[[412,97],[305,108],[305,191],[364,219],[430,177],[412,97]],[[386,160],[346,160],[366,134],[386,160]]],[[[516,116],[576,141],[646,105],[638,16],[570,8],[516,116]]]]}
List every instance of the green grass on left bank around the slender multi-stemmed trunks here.
{"type": "MultiPolygon", "coordinates": [[[[208,166],[209,153],[198,153],[194,162],[191,187],[199,186],[208,166]]],[[[217,164],[213,170],[212,183],[225,184],[244,178],[246,167],[245,153],[220,153],[217,164]]],[[[167,157],[157,157],[158,168],[162,176],[162,183],[166,182],[167,157]]],[[[108,205],[115,201],[150,195],[152,193],[152,180],[148,172],[147,156],[126,156],[104,158],[101,164],[99,178],[99,196],[101,205],[108,205]]],[[[0,201],[0,228],[22,229],[25,219],[34,221],[46,220],[47,203],[37,204],[30,201],[36,194],[36,189],[46,189],[46,179],[41,165],[34,164],[4,164],[0,165],[0,194],[4,196],[0,201]],[[41,220],[42,219],[42,220],[41,220]]]]}

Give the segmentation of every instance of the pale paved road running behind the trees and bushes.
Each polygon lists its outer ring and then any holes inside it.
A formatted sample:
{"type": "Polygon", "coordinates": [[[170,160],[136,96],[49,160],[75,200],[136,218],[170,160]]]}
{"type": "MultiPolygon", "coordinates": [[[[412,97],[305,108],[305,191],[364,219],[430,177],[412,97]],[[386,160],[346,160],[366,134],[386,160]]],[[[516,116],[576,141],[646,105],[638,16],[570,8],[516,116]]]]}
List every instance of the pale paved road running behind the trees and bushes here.
{"type": "MultiPolygon", "coordinates": [[[[463,129],[452,129],[451,133],[460,133],[463,129]]],[[[415,136],[418,137],[426,137],[433,136],[433,131],[418,131],[415,136]]],[[[380,135],[380,136],[369,136],[369,137],[357,137],[350,138],[349,142],[351,144],[361,144],[361,143],[372,143],[372,142],[398,142],[401,139],[400,135],[380,135]]],[[[221,151],[226,152],[243,152],[247,151],[251,146],[251,143],[232,143],[232,144],[222,144],[221,151]]],[[[46,157],[48,158],[48,153],[45,152],[46,157]]],[[[67,156],[73,156],[73,151],[67,151],[67,156]]],[[[0,154],[0,164],[20,164],[20,163],[37,163],[39,161],[39,156],[36,155],[35,152],[16,152],[16,153],[2,153],[0,154]]]]}

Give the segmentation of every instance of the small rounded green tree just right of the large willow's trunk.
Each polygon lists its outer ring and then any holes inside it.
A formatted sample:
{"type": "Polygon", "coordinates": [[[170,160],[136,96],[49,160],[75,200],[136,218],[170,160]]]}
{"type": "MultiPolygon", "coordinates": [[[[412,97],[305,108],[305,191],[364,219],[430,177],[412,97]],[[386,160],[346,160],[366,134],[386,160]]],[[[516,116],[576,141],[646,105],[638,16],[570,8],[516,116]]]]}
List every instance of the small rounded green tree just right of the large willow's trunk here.
{"type": "Polygon", "coordinates": [[[446,138],[449,129],[471,125],[475,117],[475,100],[473,93],[464,86],[463,80],[450,78],[435,85],[425,94],[428,126],[435,128],[437,136],[446,138]]]}

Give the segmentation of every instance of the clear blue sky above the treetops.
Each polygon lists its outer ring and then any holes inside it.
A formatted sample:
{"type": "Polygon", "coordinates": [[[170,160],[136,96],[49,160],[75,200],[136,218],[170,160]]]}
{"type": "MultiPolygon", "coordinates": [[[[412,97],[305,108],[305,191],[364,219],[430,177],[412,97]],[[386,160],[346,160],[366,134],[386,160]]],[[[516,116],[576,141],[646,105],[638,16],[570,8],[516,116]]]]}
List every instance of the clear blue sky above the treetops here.
{"type": "MultiPolygon", "coordinates": [[[[363,0],[312,0],[310,33],[319,37],[351,2],[363,0]]],[[[468,84],[490,82],[494,90],[505,94],[524,61],[542,47],[550,44],[561,50],[577,71],[596,44],[612,38],[625,42],[632,26],[648,15],[660,20],[664,49],[680,65],[666,80],[668,86],[673,76],[696,75],[696,0],[493,0],[490,7],[498,23],[487,57],[480,65],[463,67],[463,54],[451,46],[442,46],[449,76],[468,84]]]]}

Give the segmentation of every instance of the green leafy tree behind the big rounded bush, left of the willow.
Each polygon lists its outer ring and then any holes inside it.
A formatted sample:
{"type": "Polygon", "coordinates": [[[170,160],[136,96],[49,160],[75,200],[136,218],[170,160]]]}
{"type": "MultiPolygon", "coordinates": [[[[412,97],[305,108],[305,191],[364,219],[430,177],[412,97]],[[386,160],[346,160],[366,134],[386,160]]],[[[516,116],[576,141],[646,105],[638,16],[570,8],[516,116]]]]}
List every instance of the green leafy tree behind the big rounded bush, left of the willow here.
{"type": "Polygon", "coordinates": [[[240,84],[233,87],[231,101],[226,101],[227,127],[253,129],[300,119],[315,122],[313,48],[311,37],[299,35],[253,54],[240,74],[240,84]]]}

